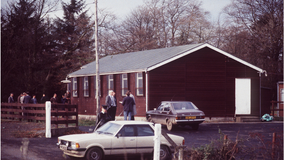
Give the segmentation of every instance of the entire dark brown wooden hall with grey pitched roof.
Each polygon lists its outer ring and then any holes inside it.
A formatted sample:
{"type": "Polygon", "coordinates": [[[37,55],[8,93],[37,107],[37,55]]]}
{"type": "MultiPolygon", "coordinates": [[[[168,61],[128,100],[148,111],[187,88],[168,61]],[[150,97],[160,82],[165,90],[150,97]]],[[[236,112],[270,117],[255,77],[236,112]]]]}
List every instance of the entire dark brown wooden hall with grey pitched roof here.
{"type": "MultiPolygon", "coordinates": [[[[131,90],[136,117],[145,117],[147,110],[168,100],[191,101],[208,120],[269,112],[269,106],[260,105],[260,73],[264,71],[208,43],[109,55],[99,64],[101,105],[109,90],[116,92],[117,101],[131,90]]],[[[79,115],[97,115],[96,62],[68,77],[71,103],[79,105],[79,115]]],[[[123,106],[118,103],[116,116],[121,112],[123,106]]]]}

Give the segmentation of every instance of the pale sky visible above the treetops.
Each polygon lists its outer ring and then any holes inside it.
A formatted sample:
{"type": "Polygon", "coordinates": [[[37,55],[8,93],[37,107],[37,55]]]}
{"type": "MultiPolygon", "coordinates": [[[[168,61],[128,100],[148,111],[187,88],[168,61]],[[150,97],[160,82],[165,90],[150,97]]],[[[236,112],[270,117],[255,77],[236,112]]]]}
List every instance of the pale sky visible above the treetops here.
{"type": "MultiPolygon", "coordinates": [[[[0,0],[1,7],[7,3],[8,0],[0,0]]],[[[65,3],[69,2],[69,0],[63,0],[65,3]]],[[[94,4],[95,0],[85,0],[87,8],[90,8],[90,13],[95,12],[94,4]]],[[[231,0],[200,0],[203,2],[203,8],[209,11],[212,15],[212,18],[216,20],[218,18],[219,13],[221,12],[222,8],[225,7],[230,3],[231,0]]],[[[139,5],[143,5],[143,0],[97,0],[98,8],[106,8],[116,14],[118,17],[123,18],[125,14],[129,13],[132,9],[139,5]]],[[[53,15],[61,15],[63,12],[57,11],[53,13],[53,15]]]]}

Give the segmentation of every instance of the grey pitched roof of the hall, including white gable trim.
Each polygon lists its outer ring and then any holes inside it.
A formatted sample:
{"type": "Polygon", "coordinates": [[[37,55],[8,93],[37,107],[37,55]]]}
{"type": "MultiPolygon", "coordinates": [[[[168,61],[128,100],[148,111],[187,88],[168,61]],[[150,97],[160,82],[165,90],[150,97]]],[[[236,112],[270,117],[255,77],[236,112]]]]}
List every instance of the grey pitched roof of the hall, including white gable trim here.
{"type": "MultiPolygon", "coordinates": [[[[226,56],[233,58],[245,65],[248,65],[258,71],[262,69],[257,68],[251,64],[248,64],[241,59],[238,59],[208,43],[200,43],[193,45],[182,45],[154,50],[145,50],[139,52],[130,52],[124,54],[115,54],[103,57],[99,60],[100,74],[114,74],[114,73],[127,73],[138,71],[150,71],[163,64],[180,58],[186,54],[194,52],[204,47],[209,47],[217,52],[225,54],[226,56]]],[[[81,67],[82,69],[70,73],[68,76],[86,76],[96,74],[96,61],[86,64],[81,67]]]]}

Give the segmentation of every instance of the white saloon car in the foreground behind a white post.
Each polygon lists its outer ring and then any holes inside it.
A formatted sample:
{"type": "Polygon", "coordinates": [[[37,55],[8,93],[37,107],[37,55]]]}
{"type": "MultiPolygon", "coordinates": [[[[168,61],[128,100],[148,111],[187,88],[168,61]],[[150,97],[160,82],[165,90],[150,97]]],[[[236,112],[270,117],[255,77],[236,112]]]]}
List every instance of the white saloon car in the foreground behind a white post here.
{"type": "MultiPolygon", "coordinates": [[[[184,138],[168,134],[177,144],[184,145],[184,138]]],[[[161,136],[160,159],[171,156],[175,148],[161,136]]],[[[94,133],[58,137],[58,148],[69,157],[101,160],[106,156],[153,156],[154,124],[143,121],[110,121],[94,133]]]]}

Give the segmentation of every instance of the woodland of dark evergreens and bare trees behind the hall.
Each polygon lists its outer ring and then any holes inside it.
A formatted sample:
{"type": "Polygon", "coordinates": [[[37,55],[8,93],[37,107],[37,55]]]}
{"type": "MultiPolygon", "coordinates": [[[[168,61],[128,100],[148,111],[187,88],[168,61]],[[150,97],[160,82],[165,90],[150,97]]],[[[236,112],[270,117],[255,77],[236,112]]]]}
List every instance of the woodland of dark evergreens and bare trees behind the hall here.
{"type": "MultiPolygon", "coordinates": [[[[261,86],[284,80],[283,0],[235,0],[213,21],[198,0],[145,0],[117,17],[98,8],[100,56],[210,43],[265,71],[261,86]]],[[[10,0],[1,6],[1,102],[10,93],[65,93],[68,73],[95,61],[95,21],[83,0],[10,0]],[[62,9],[64,16],[50,17],[62,9]]],[[[115,67],[115,66],[113,66],[115,67]]]]}

